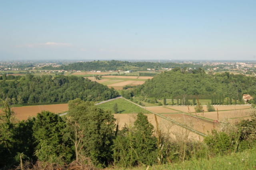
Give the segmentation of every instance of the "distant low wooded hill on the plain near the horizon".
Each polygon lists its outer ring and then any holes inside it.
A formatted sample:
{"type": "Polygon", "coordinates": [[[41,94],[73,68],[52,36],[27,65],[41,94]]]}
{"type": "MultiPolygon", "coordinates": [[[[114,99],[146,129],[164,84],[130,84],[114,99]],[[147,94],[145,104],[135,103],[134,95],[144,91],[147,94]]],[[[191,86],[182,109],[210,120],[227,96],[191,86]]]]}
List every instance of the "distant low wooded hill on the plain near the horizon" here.
{"type": "Polygon", "coordinates": [[[62,65],[60,67],[45,66],[42,69],[46,70],[147,70],[147,68],[174,68],[174,67],[202,67],[202,65],[194,64],[178,64],[178,63],[154,63],[154,62],[128,62],[128,61],[89,61],[89,62],[79,62],[72,63],[69,65],[62,65]]]}

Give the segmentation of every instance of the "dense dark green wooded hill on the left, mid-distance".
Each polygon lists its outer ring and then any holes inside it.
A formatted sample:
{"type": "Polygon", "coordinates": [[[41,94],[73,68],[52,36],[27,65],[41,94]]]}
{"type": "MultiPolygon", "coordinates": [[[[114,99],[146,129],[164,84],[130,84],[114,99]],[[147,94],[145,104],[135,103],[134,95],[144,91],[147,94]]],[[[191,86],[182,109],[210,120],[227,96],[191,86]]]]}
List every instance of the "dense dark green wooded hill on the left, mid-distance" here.
{"type": "MultiPolygon", "coordinates": [[[[4,76],[3,78],[5,79],[4,76]]],[[[19,79],[0,81],[1,99],[11,100],[14,104],[43,104],[67,103],[76,98],[84,101],[102,101],[118,96],[114,89],[83,77],[28,74],[19,79]]]]}

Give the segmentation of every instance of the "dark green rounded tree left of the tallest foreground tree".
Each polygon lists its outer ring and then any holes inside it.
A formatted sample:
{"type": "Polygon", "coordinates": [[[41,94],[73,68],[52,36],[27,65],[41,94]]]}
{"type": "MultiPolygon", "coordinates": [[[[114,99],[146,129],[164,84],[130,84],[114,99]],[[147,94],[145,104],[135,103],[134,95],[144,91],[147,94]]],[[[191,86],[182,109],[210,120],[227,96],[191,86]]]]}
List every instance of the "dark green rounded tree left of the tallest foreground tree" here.
{"type": "Polygon", "coordinates": [[[72,156],[68,143],[64,141],[62,118],[49,111],[42,111],[34,122],[34,138],[36,139],[36,156],[38,160],[50,163],[69,162],[72,156]]]}

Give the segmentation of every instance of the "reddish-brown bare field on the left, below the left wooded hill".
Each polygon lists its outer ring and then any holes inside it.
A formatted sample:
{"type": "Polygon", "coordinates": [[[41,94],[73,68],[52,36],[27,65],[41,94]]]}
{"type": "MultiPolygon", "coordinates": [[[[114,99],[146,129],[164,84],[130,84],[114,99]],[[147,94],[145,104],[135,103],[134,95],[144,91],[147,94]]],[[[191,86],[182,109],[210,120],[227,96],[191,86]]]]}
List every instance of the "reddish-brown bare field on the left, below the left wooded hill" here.
{"type": "Polygon", "coordinates": [[[41,111],[50,111],[52,113],[68,111],[68,104],[13,107],[12,110],[16,113],[15,116],[18,119],[27,120],[29,116],[36,116],[37,113],[40,113],[41,111]]]}

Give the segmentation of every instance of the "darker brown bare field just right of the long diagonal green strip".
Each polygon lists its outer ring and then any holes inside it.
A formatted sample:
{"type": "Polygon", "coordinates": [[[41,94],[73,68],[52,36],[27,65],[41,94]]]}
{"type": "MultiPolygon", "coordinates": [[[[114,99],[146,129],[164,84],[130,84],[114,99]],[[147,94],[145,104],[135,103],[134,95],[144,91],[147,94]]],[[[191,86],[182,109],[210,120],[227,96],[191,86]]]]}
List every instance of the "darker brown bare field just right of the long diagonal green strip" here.
{"type": "Polygon", "coordinates": [[[190,123],[193,125],[192,128],[204,134],[207,134],[207,131],[211,131],[212,128],[218,128],[219,125],[216,123],[208,123],[206,121],[202,121],[201,119],[196,119],[194,117],[190,117],[185,114],[163,114],[163,116],[168,117],[169,119],[173,119],[174,121],[180,123],[190,123]]]}

